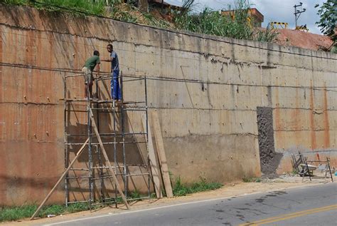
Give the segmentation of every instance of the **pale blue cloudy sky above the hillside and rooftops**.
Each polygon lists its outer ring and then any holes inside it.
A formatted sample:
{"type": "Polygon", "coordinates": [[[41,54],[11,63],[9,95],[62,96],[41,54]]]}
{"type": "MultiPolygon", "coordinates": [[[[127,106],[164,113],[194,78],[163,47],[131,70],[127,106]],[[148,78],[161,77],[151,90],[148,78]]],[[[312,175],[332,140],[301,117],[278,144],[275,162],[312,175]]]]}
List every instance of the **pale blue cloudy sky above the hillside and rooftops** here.
{"type": "MultiPolygon", "coordinates": [[[[166,0],[169,4],[181,5],[183,0],[166,0]]],[[[262,27],[267,27],[270,21],[286,22],[288,23],[288,29],[295,28],[295,15],[294,5],[299,5],[302,2],[302,8],[306,9],[304,13],[299,16],[298,25],[306,24],[309,32],[314,34],[321,34],[319,27],[315,24],[319,21],[317,11],[319,8],[315,8],[316,4],[320,6],[324,0],[250,0],[251,8],[256,8],[264,16],[264,22],[262,27]]],[[[196,11],[202,10],[205,6],[208,6],[215,10],[228,9],[228,5],[234,5],[235,0],[196,0],[196,11]]],[[[301,8],[298,8],[301,10],[301,8]]]]}

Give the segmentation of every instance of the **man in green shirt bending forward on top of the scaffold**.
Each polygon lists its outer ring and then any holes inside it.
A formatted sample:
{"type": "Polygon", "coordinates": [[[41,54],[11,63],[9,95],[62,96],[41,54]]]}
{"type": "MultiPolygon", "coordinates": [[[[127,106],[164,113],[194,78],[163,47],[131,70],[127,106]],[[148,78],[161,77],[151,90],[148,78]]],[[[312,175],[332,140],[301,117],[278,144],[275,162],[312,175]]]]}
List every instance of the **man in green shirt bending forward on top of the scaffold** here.
{"type": "Polygon", "coordinates": [[[95,66],[97,66],[97,76],[100,76],[100,52],[95,50],[94,56],[90,57],[85,61],[85,65],[82,68],[82,72],[85,76],[85,98],[87,98],[87,93],[90,93],[89,98],[92,98],[92,84],[94,78],[92,77],[92,71],[94,71],[95,66]]]}

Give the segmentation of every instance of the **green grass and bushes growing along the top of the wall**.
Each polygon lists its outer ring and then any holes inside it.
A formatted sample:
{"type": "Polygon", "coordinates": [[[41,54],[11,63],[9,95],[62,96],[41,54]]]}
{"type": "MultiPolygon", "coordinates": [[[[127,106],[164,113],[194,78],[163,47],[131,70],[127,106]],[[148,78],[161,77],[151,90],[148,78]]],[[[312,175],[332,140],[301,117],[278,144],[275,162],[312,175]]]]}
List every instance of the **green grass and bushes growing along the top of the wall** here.
{"type": "Polygon", "coordinates": [[[205,8],[200,14],[193,12],[194,0],[184,0],[183,7],[172,11],[171,21],[163,19],[160,9],[141,12],[134,4],[124,4],[120,0],[4,0],[5,4],[26,5],[47,11],[67,11],[73,15],[107,16],[111,19],[135,24],[144,24],[164,29],[192,31],[229,38],[277,41],[274,29],[256,29],[247,21],[250,3],[237,0],[235,16],[224,16],[218,11],[205,8]]]}

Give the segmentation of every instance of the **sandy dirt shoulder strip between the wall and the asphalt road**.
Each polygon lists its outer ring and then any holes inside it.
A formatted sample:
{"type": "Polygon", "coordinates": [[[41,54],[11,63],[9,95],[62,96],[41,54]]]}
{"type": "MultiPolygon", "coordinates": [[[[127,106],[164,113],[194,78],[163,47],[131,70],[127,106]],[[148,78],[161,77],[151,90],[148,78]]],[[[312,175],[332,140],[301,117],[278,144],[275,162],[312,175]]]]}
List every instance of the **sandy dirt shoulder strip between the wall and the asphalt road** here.
{"type": "MultiPolygon", "coordinates": [[[[207,192],[198,192],[192,195],[183,196],[183,197],[172,197],[172,198],[162,198],[160,200],[143,200],[139,202],[130,203],[131,210],[142,210],[147,208],[161,207],[165,205],[174,205],[183,202],[195,202],[198,200],[211,200],[220,197],[236,197],[240,195],[248,195],[258,192],[267,192],[272,190],[282,190],[285,188],[297,188],[304,186],[314,186],[322,183],[331,183],[331,179],[329,178],[315,178],[311,181],[309,178],[301,178],[293,175],[281,175],[279,178],[275,179],[260,179],[259,183],[244,183],[244,182],[236,182],[236,183],[226,183],[223,188],[218,190],[211,190],[207,192]]],[[[336,181],[337,177],[333,176],[333,181],[336,181]]],[[[105,207],[100,210],[95,211],[83,211],[76,212],[72,214],[59,215],[53,218],[43,218],[38,220],[21,220],[21,222],[4,222],[0,225],[39,225],[39,224],[48,224],[53,220],[55,222],[63,221],[63,220],[71,220],[77,217],[92,217],[95,215],[102,214],[113,214],[117,212],[124,212],[126,210],[124,205],[119,205],[119,208],[113,207],[105,207]]]]}

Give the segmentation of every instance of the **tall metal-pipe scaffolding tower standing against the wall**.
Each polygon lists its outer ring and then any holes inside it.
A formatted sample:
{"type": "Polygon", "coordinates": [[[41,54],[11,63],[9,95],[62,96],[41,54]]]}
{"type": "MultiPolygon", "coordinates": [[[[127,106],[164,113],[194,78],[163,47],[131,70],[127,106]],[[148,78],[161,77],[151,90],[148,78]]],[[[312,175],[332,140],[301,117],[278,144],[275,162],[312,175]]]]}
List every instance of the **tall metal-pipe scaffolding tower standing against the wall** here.
{"type": "MultiPolygon", "coordinates": [[[[148,127],[144,130],[134,130],[129,113],[132,112],[134,118],[146,118],[148,122],[146,76],[119,76],[122,100],[120,103],[112,100],[109,93],[109,80],[111,76],[105,74],[95,80],[95,95],[97,98],[72,98],[71,89],[76,88],[76,80],[82,81],[81,74],[65,75],[64,78],[64,142],[65,142],[65,168],[71,161],[73,151],[83,145],[86,139],[87,155],[83,153],[82,159],[78,160],[77,166],[70,168],[69,173],[65,175],[65,205],[76,202],[87,202],[90,209],[93,205],[102,203],[115,203],[116,207],[121,202],[121,196],[118,195],[116,185],[113,185],[113,179],[109,174],[109,166],[104,165],[102,159],[101,144],[105,146],[109,159],[112,160],[114,174],[124,189],[124,196],[128,201],[144,199],[151,197],[151,175],[149,160],[144,157],[144,151],[141,152],[141,144],[147,145],[148,127]],[[142,95],[137,93],[137,101],[124,100],[124,85],[137,83],[132,86],[144,86],[142,95]],[[108,88],[107,88],[108,87],[108,88]],[[139,100],[139,98],[141,98],[139,100]],[[86,123],[81,123],[85,120],[86,123]],[[93,125],[95,127],[93,127],[93,125]],[[95,134],[92,129],[97,128],[95,134]],[[132,128],[132,129],[130,129],[132,128]],[[129,148],[132,146],[132,148],[129,148]],[[139,151],[140,161],[128,161],[133,156],[128,150],[139,151]],[[133,173],[129,168],[139,169],[133,173]],[[137,190],[132,178],[141,177],[141,182],[146,186],[146,195],[141,197],[132,195],[129,192],[129,180],[132,180],[132,186],[137,190]]],[[[130,87],[132,87],[130,86],[130,87]]],[[[94,96],[95,96],[94,95],[94,96]]],[[[89,95],[88,95],[89,96],[89,95]]],[[[146,150],[146,148],[144,149],[146,150]]],[[[104,153],[103,153],[104,154],[104,153]]],[[[132,170],[134,171],[134,170],[132,170]]],[[[139,181],[139,180],[138,180],[139,181]]],[[[143,189],[144,190],[144,189],[143,189]]],[[[144,192],[143,192],[144,193],[144,192]]]]}

